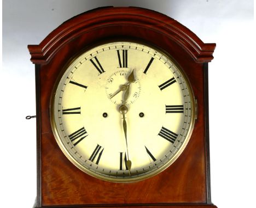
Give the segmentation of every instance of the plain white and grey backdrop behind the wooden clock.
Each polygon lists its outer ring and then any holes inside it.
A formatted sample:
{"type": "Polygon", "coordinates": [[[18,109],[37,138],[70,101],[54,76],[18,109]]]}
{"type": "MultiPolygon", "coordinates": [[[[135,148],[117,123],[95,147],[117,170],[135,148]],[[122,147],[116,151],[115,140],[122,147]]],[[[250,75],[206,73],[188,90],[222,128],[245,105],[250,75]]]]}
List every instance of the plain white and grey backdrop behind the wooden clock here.
{"type": "Polygon", "coordinates": [[[63,21],[107,5],[164,13],[203,42],[216,42],[209,64],[212,201],[219,208],[255,207],[255,33],[253,1],[4,0],[0,75],[0,206],[32,207],[36,197],[34,65],[39,44],[63,21]]]}

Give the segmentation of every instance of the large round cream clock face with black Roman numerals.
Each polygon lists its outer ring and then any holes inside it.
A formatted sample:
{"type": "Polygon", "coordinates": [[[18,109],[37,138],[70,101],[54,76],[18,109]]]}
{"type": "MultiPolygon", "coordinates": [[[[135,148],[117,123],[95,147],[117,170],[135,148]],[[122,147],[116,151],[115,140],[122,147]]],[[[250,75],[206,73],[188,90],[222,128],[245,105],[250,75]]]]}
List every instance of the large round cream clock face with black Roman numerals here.
{"type": "Polygon", "coordinates": [[[56,84],[51,125],[69,160],[97,178],[129,182],[170,166],[194,125],[194,96],[165,53],[110,42],[75,58],[56,84]]]}

